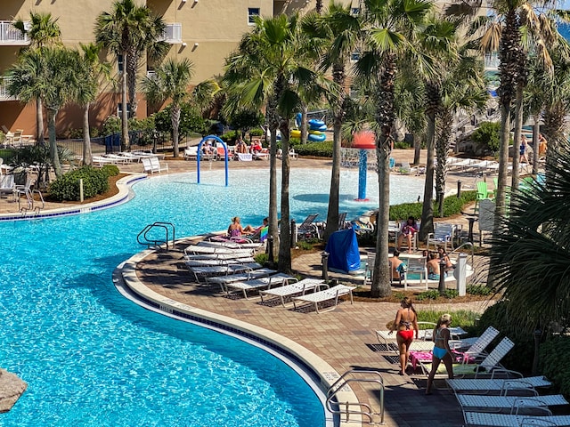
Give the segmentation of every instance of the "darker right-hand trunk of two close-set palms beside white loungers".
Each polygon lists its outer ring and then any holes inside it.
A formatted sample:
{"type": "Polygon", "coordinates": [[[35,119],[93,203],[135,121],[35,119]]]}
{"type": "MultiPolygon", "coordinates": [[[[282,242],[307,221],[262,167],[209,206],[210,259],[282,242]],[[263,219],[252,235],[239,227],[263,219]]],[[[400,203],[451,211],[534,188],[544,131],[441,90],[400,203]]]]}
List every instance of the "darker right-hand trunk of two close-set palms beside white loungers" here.
{"type": "Polygon", "coordinates": [[[281,239],[279,242],[279,270],[291,270],[291,230],[289,227],[289,120],[281,117],[281,239]]]}

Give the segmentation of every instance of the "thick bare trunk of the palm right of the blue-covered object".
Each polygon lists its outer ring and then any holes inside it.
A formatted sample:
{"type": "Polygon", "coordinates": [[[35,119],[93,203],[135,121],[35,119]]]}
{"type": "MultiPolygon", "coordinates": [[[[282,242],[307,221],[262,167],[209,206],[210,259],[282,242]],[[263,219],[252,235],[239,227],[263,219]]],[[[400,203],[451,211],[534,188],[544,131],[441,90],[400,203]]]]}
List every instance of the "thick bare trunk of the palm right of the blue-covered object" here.
{"type": "Polygon", "coordinates": [[[379,211],[378,234],[376,237],[376,262],[372,274],[371,297],[378,298],[392,294],[390,270],[388,267],[388,222],[390,218],[390,132],[394,125],[394,82],[395,55],[388,55],[385,67],[379,76],[377,93],[376,157],[378,160],[379,211]]]}

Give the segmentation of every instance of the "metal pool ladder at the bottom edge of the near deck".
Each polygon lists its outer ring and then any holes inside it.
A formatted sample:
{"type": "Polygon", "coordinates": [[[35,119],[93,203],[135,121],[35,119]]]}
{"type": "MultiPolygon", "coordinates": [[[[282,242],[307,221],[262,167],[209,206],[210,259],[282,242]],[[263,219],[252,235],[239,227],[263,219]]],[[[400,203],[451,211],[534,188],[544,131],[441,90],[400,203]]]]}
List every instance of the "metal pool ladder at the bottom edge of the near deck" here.
{"type": "Polygon", "coordinates": [[[351,369],[346,371],[338,380],[333,383],[327,391],[326,407],[330,413],[342,417],[342,423],[362,423],[366,418],[369,425],[384,424],[384,380],[379,371],[351,369]],[[365,377],[357,375],[366,375],[365,377]],[[372,407],[367,403],[361,402],[340,402],[337,394],[340,391],[346,391],[350,383],[376,383],[379,385],[379,412],[373,412],[372,407]],[[361,415],[360,417],[352,417],[352,415],[361,415]],[[379,422],[377,421],[379,417],[379,422]]]}

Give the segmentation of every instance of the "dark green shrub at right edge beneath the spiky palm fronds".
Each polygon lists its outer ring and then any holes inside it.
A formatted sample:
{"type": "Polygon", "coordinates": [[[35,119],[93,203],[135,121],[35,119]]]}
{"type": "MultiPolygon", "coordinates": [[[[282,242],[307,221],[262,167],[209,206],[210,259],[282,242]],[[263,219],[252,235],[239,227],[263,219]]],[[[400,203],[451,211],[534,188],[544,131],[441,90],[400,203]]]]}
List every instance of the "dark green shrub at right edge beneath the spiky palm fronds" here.
{"type": "Polygon", "coordinates": [[[539,368],[566,399],[570,399],[570,369],[563,360],[570,351],[570,336],[556,337],[541,344],[539,368]]]}

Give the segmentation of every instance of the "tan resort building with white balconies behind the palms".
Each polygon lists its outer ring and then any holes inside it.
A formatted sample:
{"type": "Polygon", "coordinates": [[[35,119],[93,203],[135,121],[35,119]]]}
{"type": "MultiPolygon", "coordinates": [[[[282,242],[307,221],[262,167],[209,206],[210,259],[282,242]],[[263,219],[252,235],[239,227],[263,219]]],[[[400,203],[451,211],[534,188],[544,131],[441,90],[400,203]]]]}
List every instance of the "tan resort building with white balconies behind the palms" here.
{"type": "MultiPolygon", "coordinates": [[[[222,73],[224,58],[232,52],[244,32],[251,28],[253,17],[270,17],[280,13],[308,12],[315,7],[315,0],[135,0],[148,6],[167,24],[164,35],[170,44],[167,57],[182,60],[188,58],[194,64],[192,84],[198,84],[222,73]]],[[[344,0],[349,3],[350,0],[344,0]]],[[[36,133],[36,108],[24,105],[8,96],[4,89],[4,75],[18,58],[20,49],[29,44],[26,36],[13,27],[14,20],[28,20],[30,12],[51,13],[61,28],[62,43],[68,47],[94,42],[95,20],[102,12],[112,12],[114,0],[77,0],[72,2],[48,0],[2,0],[0,8],[0,128],[23,129],[24,133],[36,133]]],[[[357,0],[352,2],[358,4],[357,0]]],[[[328,2],[323,2],[328,4],[328,2]]],[[[107,60],[114,65],[113,79],[102,87],[99,100],[90,111],[91,125],[101,125],[120,108],[118,63],[112,55],[107,60]]],[[[152,72],[146,62],[143,71],[152,72]]],[[[146,102],[139,95],[137,117],[146,117],[146,102]]],[[[58,119],[58,133],[81,127],[81,110],[67,106],[58,119]]],[[[47,129],[47,127],[45,127],[47,129]]],[[[47,131],[46,131],[47,132],[47,131]]]]}

